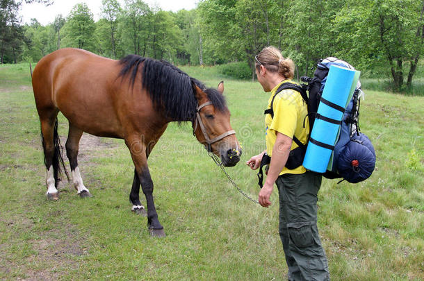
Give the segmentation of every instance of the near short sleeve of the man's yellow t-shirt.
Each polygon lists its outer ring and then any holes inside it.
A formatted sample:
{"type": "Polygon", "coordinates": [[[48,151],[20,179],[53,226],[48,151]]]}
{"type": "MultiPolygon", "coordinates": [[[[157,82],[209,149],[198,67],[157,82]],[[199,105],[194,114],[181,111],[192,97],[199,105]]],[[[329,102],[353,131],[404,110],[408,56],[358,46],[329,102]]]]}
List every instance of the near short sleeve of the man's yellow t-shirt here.
{"type": "Polygon", "coordinates": [[[272,118],[270,130],[275,130],[293,139],[297,126],[296,103],[291,99],[291,95],[283,94],[283,92],[275,98],[272,106],[274,118],[272,118]]]}

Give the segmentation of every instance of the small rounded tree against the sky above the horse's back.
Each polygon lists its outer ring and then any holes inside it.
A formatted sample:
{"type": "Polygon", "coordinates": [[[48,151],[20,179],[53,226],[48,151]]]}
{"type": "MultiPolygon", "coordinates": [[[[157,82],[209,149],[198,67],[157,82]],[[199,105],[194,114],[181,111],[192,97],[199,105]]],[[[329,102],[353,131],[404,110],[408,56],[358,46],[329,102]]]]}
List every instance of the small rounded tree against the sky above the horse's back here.
{"type": "Polygon", "coordinates": [[[67,37],[71,46],[79,49],[94,49],[95,21],[87,4],[76,4],[72,8],[65,26],[67,26],[67,37]]]}

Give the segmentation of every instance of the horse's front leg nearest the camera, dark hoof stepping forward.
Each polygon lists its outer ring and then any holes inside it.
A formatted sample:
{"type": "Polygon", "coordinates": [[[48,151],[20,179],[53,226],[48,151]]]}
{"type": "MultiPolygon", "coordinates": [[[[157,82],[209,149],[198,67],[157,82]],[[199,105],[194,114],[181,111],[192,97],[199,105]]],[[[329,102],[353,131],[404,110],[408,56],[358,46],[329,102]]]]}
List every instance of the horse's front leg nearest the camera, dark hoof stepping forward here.
{"type": "MultiPolygon", "coordinates": [[[[158,213],[153,201],[153,181],[150,176],[149,167],[147,167],[147,155],[145,144],[140,142],[140,139],[127,139],[125,141],[130,152],[131,157],[136,167],[136,176],[140,181],[142,192],[146,196],[147,202],[147,225],[149,227],[150,234],[155,237],[165,237],[163,226],[159,222],[158,213]]],[[[134,180],[134,185],[138,182],[134,180]]],[[[131,198],[131,195],[130,195],[131,198]]],[[[137,202],[136,202],[137,203],[137,202]]]]}

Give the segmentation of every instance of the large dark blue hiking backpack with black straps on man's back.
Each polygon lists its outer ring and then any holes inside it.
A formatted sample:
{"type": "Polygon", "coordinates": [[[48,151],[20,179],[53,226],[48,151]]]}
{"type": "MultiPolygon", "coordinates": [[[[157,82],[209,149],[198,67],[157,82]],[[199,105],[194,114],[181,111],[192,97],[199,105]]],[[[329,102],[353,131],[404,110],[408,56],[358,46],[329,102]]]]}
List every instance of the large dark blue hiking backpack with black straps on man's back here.
{"type": "MultiPolygon", "coordinates": [[[[343,180],[347,180],[348,182],[352,183],[361,182],[362,180],[369,178],[375,168],[375,151],[373,145],[371,144],[370,139],[368,139],[366,135],[360,133],[359,131],[360,98],[364,95],[364,92],[361,90],[361,83],[358,81],[357,87],[354,91],[352,99],[348,103],[347,108],[338,108],[338,110],[344,112],[341,123],[340,121],[329,119],[327,117],[321,116],[320,114],[317,114],[318,105],[321,102],[335,108],[338,107],[338,105],[322,99],[321,97],[323,94],[325,82],[327,80],[329,67],[331,65],[354,70],[354,67],[349,65],[348,62],[339,60],[337,58],[329,57],[325,58],[324,60],[320,60],[312,78],[302,76],[302,82],[307,84],[297,85],[293,83],[284,83],[280,85],[275,95],[272,97],[270,109],[266,110],[264,114],[271,114],[271,117],[273,117],[272,105],[275,96],[277,96],[277,94],[282,90],[292,89],[299,92],[302,96],[302,99],[304,99],[304,101],[307,103],[307,117],[309,119],[310,132],[312,131],[313,124],[316,119],[323,119],[327,122],[341,125],[339,130],[339,138],[337,139],[334,148],[332,147],[334,153],[333,157],[329,162],[327,171],[323,173],[323,176],[325,178],[343,178],[343,180]]],[[[305,117],[305,120],[307,117],[305,117]]],[[[319,146],[323,145],[314,142],[314,140],[310,137],[310,132],[308,135],[307,144],[312,142],[313,144],[319,146]]],[[[293,141],[297,144],[298,147],[293,149],[293,151],[291,151],[288,156],[287,162],[292,163],[291,167],[286,164],[288,169],[294,169],[302,164],[304,152],[307,148],[307,144],[302,144],[295,136],[293,136],[293,141]]],[[[260,187],[262,187],[263,181],[262,167],[269,163],[270,157],[265,154],[258,173],[260,187]]]]}

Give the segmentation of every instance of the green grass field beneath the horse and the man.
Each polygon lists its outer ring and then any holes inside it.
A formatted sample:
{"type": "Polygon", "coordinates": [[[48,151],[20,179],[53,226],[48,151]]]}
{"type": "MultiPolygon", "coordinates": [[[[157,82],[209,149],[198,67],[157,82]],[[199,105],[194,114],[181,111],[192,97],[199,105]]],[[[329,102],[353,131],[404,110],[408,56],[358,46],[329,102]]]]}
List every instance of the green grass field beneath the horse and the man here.
{"type": "MultiPolygon", "coordinates": [[[[222,80],[214,68],[184,70],[210,87],[222,80]]],[[[360,126],[375,146],[375,172],[357,185],[323,180],[318,194],[332,280],[423,280],[424,97],[364,91],[360,126]]],[[[227,80],[225,95],[243,143],[227,171],[256,198],[256,173],[243,162],[264,148],[268,94],[227,80]]],[[[61,115],[59,133],[64,144],[61,115]]],[[[0,280],[285,280],[276,190],[268,209],[247,201],[188,124],[171,124],[149,158],[163,239],[131,212],[123,141],[84,135],[79,167],[94,197],[80,199],[64,180],[60,201],[47,201],[28,65],[1,65],[0,280]]]]}

